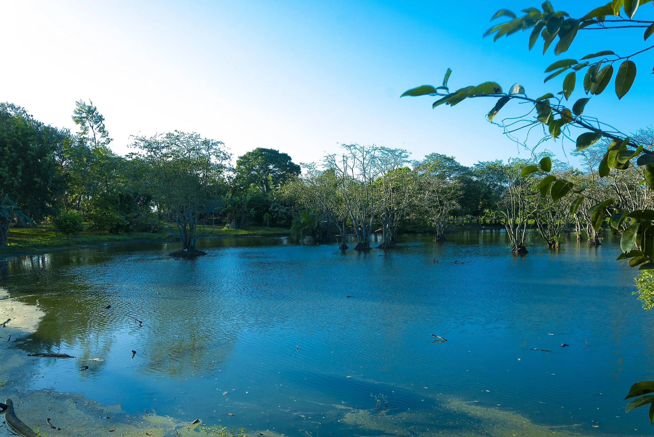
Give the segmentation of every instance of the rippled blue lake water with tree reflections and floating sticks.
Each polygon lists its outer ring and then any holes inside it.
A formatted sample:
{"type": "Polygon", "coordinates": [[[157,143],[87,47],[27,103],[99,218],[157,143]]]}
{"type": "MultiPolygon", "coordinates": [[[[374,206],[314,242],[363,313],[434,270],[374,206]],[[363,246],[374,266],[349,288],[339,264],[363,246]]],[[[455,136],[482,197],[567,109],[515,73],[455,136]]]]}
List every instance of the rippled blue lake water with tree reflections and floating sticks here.
{"type": "Polygon", "coordinates": [[[652,317],[615,242],[514,256],[498,231],[432,238],[370,253],[220,238],[194,261],[163,243],[62,251],[9,261],[0,287],[46,312],[16,348],[78,357],[36,361],[27,388],[131,414],[255,435],[651,433],[623,398],[653,377],[652,317]]]}

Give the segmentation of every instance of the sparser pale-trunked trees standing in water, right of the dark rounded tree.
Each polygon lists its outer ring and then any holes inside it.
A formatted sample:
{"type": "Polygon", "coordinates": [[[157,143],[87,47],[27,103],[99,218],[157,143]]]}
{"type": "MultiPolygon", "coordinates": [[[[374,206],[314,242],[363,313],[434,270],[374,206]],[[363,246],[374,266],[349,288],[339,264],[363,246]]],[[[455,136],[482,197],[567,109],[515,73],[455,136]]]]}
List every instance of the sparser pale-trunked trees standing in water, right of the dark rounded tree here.
{"type": "MultiPolygon", "coordinates": [[[[651,130],[638,135],[654,146],[651,130]]],[[[405,150],[343,144],[341,154],[307,166],[283,191],[304,209],[292,227],[296,239],[333,242],[330,231],[336,228],[343,249],[349,233],[356,236],[357,250],[370,248],[373,233],[381,234],[380,248],[390,248],[402,229],[430,229],[443,241],[448,226],[473,221],[502,225],[515,253],[526,253],[528,231],[549,248],[559,247],[564,233],[595,245],[602,231],[610,232],[593,226],[595,202],[613,198],[619,208],[645,209],[653,201],[643,169],[598,177],[606,147],[598,142],[576,152],[583,168],[575,169],[547,154],[465,167],[441,154],[410,162],[405,150]],[[538,165],[544,170],[529,171],[538,165]],[[547,195],[553,176],[585,186],[588,198],[574,208],[572,191],[554,200],[547,195]]]]}

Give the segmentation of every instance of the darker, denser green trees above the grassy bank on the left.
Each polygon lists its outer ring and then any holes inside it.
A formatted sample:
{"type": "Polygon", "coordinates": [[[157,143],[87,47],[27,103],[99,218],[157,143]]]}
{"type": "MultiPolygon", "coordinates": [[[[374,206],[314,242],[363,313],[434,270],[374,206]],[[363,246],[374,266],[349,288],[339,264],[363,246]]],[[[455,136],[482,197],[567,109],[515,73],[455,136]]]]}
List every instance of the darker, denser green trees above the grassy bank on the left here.
{"type": "Polygon", "coordinates": [[[174,223],[184,250],[225,223],[290,226],[292,204],[277,192],[300,167],[287,154],[256,148],[230,167],[220,141],[173,131],[134,137],[134,152],[114,154],[105,120],[92,102],[77,102],[78,133],[0,104],[0,245],[10,227],[48,223],[66,235],[156,232],[174,223]]]}

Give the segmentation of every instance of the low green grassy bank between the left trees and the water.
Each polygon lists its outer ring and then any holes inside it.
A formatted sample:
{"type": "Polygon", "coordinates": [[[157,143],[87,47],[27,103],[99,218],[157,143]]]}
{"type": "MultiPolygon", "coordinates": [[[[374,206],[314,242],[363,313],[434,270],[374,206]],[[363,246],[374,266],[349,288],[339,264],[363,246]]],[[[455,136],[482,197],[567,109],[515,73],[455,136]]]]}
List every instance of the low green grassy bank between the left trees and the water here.
{"type": "MultiPolygon", "coordinates": [[[[38,226],[12,228],[9,230],[7,246],[0,247],[0,255],[14,253],[42,252],[48,250],[63,250],[66,248],[85,248],[116,244],[123,242],[169,240],[169,232],[174,229],[164,229],[159,233],[132,233],[109,235],[102,231],[85,231],[67,239],[65,235],[56,233],[52,227],[38,226]]],[[[284,236],[289,235],[288,229],[280,227],[250,227],[250,229],[215,229],[213,233],[205,233],[202,238],[219,238],[222,236],[284,236]]],[[[174,238],[174,237],[173,237],[174,238]]]]}

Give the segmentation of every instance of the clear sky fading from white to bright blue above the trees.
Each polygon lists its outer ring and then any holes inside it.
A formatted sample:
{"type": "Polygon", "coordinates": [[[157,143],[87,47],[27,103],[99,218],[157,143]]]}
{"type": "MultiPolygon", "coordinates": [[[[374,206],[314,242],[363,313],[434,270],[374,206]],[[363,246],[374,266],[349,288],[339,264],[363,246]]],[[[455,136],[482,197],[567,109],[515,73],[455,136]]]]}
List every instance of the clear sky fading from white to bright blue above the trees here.
{"type": "MultiPolygon", "coordinates": [[[[495,80],[504,88],[518,82],[532,97],[559,91],[559,78],[543,85],[552,50],[542,56],[539,42],[528,52],[527,33],[482,38],[498,8],[539,4],[0,0],[0,101],[75,130],[75,101],[92,99],[119,154],[130,135],[177,129],[222,140],[235,156],[266,147],[296,162],[319,161],[341,142],[401,147],[412,159],[438,152],[464,165],[527,157],[484,119],[490,99],[432,110],[432,97],[399,96],[439,85],[447,67],[453,88],[495,80]]],[[[553,1],[577,17],[600,4],[553,1]]],[[[639,16],[654,16],[651,4],[642,8],[639,16]]],[[[641,35],[581,31],[564,56],[626,54],[643,47],[641,35]]],[[[627,132],[653,123],[652,57],[636,60],[632,91],[618,102],[611,84],[586,110],[627,132]]],[[[579,88],[571,100],[583,96],[579,88]]],[[[546,144],[564,160],[562,147],[571,146],[546,144]]]]}

